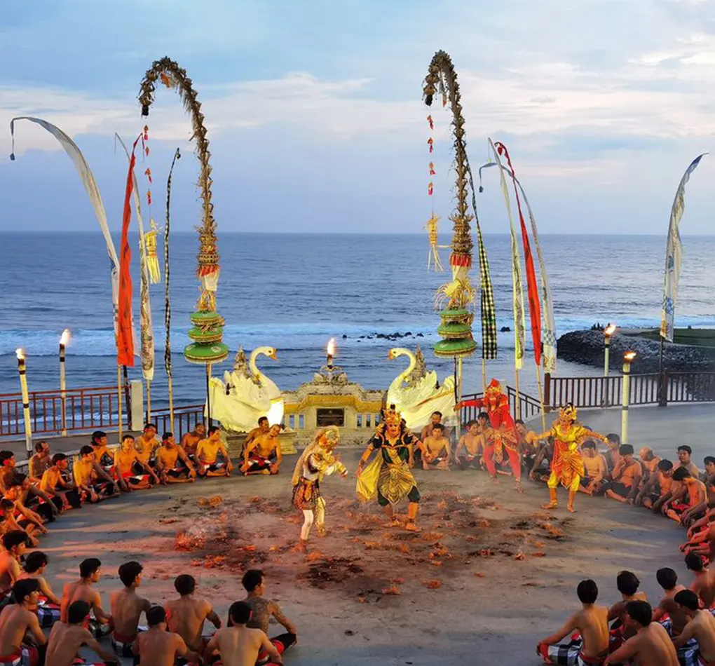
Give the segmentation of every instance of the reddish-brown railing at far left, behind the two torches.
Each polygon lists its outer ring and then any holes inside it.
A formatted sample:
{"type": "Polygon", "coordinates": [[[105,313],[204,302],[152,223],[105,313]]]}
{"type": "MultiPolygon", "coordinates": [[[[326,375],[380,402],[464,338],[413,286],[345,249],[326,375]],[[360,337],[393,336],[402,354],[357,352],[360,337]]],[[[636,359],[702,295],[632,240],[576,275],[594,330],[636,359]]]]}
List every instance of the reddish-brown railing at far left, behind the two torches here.
{"type": "MultiPolygon", "coordinates": [[[[29,394],[33,434],[59,435],[119,427],[116,386],[34,391],[29,394]]],[[[122,413],[122,423],[127,423],[122,413]]],[[[25,424],[21,393],[0,394],[0,437],[20,438],[25,424]]]]}

